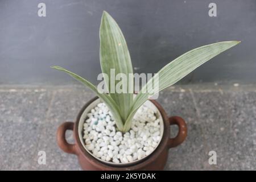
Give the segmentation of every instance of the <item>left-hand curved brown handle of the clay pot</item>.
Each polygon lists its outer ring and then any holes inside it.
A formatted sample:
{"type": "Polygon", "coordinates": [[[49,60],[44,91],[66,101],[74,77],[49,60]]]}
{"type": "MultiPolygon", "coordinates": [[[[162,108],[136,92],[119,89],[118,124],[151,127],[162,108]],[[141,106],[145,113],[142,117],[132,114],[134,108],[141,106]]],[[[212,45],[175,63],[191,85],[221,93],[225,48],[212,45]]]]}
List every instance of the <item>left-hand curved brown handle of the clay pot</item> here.
{"type": "Polygon", "coordinates": [[[73,130],[73,127],[74,127],[73,122],[64,122],[57,129],[57,143],[61,148],[61,150],[69,154],[76,154],[76,146],[75,144],[70,144],[67,142],[65,138],[65,133],[67,130],[73,130]]]}

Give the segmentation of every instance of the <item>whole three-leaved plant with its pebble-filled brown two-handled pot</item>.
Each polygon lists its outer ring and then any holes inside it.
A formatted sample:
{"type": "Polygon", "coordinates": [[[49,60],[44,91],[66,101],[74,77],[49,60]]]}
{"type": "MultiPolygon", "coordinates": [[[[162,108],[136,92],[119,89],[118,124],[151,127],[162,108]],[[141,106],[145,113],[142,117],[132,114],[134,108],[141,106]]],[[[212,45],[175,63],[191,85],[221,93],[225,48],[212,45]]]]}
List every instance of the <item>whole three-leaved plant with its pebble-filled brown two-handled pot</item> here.
{"type": "Polygon", "coordinates": [[[68,73],[98,96],[82,107],[75,123],[65,122],[59,127],[59,147],[65,152],[76,154],[83,169],[163,169],[168,149],[184,141],[187,126],[180,117],[168,118],[158,102],[149,100],[156,93],[152,92],[152,84],[157,85],[156,91],[159,92],[238,43],[213,43],[184,53],[160,69],[136,95],[133,93],[133,77],[129,82],[119,85],[124,92],[112,92],[112,87],[116,88],[119,84],[111,78],[113,69],[116,74],[122,75],[123,81],[125,76],[133,74],[133,67],[118,24],[104,11],[100,26],[100,63],[107,93],[67,69],[52,67],[68,73]],[[179,126],[175,138],[169,137],[170,125],[179,126]],[[75,144],[65,140],[66,130],[73,130],[75,144]]]}

